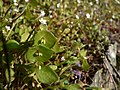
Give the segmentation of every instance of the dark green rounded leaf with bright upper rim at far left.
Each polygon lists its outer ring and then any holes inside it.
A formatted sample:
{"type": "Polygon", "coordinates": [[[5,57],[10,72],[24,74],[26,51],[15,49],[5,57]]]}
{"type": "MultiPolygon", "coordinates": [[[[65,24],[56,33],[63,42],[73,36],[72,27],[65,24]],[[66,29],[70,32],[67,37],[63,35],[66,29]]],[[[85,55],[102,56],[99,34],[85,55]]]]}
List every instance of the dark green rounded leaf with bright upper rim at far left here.
{"type": "Polygon", "coordinates": [[[14,49],[18,49],[20,47],[19,43],[17,41],[15,41],[15,40],[9,40],[6,43],[6,46],[7,46],[8,50],[14,50],[14,49]]]}

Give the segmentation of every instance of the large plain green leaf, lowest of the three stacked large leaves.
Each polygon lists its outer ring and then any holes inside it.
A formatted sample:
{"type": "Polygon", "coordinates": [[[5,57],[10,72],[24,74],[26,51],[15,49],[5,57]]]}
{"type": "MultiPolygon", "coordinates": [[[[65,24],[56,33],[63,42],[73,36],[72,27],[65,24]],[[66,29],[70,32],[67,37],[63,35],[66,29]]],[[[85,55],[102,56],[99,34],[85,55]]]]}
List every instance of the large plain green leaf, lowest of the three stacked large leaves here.
{"type": "Polygon", "coordinates": [[[51,84],[58,80],[58,75],[49,66],[42,66],[41,69],[36,69],[36,76],[39,81],[45,84],[51,84]]]}

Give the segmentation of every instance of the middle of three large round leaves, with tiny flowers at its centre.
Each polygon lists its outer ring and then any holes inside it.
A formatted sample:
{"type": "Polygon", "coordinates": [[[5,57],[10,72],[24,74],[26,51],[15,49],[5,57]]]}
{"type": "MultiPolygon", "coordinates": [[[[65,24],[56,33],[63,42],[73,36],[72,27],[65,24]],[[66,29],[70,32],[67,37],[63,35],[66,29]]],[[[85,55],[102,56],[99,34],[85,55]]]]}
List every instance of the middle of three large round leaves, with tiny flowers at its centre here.
{"type": "Polygon", "coordinates": [[[35,62],[35,61],[46,62],[51,58],[52,53],[53,53],[52,50],[42,45],[39,45],[37,47],[29,48],[26,55],[27,55],[28,60],[32,62],[35,62]]]}

